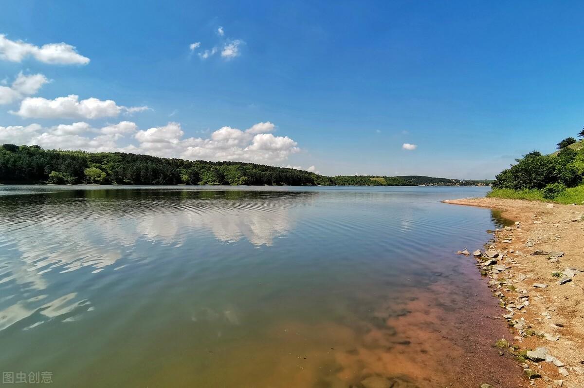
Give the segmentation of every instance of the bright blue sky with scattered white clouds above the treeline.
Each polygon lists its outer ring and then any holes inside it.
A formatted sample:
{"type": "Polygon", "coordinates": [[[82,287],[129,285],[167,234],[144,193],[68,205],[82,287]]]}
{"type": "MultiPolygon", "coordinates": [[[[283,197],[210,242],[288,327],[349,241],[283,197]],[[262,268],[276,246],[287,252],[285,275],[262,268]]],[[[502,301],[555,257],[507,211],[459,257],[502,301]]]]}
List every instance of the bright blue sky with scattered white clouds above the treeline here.
{"type": "Polygon", "coordinates": [[[2,2],[0,142],[492,178],[584,125],[581,2],[166,3],[2,2]]]}

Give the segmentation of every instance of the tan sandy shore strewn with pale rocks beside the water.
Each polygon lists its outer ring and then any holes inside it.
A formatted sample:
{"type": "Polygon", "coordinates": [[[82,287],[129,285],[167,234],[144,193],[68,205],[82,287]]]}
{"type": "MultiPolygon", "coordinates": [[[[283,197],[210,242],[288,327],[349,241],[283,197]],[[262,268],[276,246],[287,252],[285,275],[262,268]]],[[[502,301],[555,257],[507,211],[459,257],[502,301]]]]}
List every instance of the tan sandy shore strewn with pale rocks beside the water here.
{"type": "Polygon", "coordinates": [[[444,202],[501,210],[515,222],[468,253],[491,278],[502,320],[515,336],[510,346],[499,346],[531,376],[526,386],[584,387],[584,206],[498,198],[444,202]]]}

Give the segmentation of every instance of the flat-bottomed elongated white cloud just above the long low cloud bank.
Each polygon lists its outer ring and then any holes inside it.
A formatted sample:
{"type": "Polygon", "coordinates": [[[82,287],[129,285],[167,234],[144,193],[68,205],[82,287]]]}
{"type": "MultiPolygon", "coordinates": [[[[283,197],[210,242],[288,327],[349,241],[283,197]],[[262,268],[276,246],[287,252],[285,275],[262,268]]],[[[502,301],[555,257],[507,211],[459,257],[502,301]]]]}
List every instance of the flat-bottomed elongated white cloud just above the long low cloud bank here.
{"type": "Polygon", "coordinates": [[[102,101],[98,98],[88,98],[79,101],[79,96],[69,94],[67,97],[57,97],[46,99],[42,97],[27,97],[20,102],[20,109],[12,114],[22,118],[73,118],[73,119],[96,119],[102,117],[115,117],[120,112],[129,114],[140,112],[148,107],[124,107],[117,105],[115,101],[106,99],[102,101]]]}

